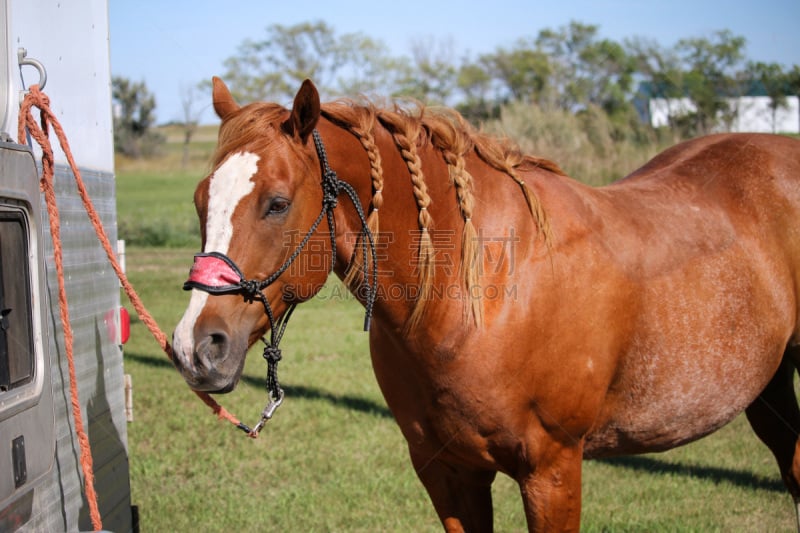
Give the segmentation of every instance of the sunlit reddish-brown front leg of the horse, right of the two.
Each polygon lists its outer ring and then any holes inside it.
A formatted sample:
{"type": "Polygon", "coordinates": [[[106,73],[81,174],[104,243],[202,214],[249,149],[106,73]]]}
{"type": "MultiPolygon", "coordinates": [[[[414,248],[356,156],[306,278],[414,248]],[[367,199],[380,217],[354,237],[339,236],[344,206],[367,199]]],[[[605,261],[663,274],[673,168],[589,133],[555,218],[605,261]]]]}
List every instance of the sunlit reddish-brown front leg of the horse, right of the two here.
{"type": "Polygon", "coordinates": [[[543,442],[517,477],[529,531],[578,531],[581,521],[583,443],[543,442]]]}

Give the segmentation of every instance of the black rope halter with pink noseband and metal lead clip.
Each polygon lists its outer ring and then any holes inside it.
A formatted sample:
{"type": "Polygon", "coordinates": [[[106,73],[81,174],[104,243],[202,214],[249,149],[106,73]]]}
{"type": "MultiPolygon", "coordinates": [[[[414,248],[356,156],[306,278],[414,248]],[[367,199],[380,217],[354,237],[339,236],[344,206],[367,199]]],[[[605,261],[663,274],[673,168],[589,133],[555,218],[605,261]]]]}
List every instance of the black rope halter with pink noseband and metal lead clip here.
{"type": "MultiPolygon", "coordinates": [[[[378,288],[378,265],[376,263],[375,253],[375,240],[372,232],[367,227],[366,216],[364,209],[361,207],[361,202],[358,199],[358,194],[352,185],[340,180],[336,172],[331,169],[328,164],[328,156],[325,152],[325,146],[322,144],[322,139],[319,132],[314,130],[312,132],[314,138],[314,146],[317,150],[317,157],[319,158],[320,167],[322,170],[322,210],[317,216],[311,228],[306,233],[300,244],[297,245],[292,255],[284,261],[283,265],[275,271],[274,274],[264,280],[251,279],[248,280],[244,277],[241,269],[236,263],[227,255],[220,252],[199,253],[194,256],[194,264],[189,271],[189,279],[183,284],[184,290],[198,289],[205,291],[211,295],[215,294],[243,294],[248,301],[258,299],[264,305],[264,312],[269,319],[270,327],[270,340],[264,340],[264,359],[267,360],[267,393],[269,401],[261,413],[261,420],[256,424],[253,429],[250,429],[245,424],[239,424],[239,429],[245,431],[251,437],[258,436],[258,432],[264,427],[264,424],[272,418],[275,410],[283,402],[283,389],[278,383],[278,361],[281,360],[281,350],[278,348],[286,325],[289,318],[292,316],[296,303],[289,304],[286,312],[275,319],[272,307],[269,305],[266,295],[263,290],[274,283],[286,270],[291,266],[295,259],[305,248],[311,236],[317,231],[323,217],[328,219],[328,228],[330,230],[331,238],[331,270],[336,264],[336,228],[333,216],[333,210],[338,203],[339,194],[344,191],[350,197],[350,201],[356,209],[356,213],[361,221],[361,251],[363,254],[363,261],[361,262],[362,276],[365,283],[364,298],[365,298],[365,314],[364,314],[364,331],[369,331],[370,322],[372,320],[372,309],[375,304],[375,297],[378,288]],[[367,248],[369,243],[369,249],[367,248]],[[367,254],[372,255],[372,280],[370,281],[369,262],[367,254]]],[[[353,250],[355,256],[357,250],[353,250]]]]}

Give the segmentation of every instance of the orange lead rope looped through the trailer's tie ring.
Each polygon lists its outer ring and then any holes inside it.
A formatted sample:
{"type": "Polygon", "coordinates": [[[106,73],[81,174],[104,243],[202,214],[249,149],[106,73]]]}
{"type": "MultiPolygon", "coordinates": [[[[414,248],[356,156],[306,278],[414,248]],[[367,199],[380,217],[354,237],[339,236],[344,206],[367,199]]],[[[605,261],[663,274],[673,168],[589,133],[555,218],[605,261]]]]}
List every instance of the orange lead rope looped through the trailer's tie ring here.
{"type": "MultiPolygon", "coordinates": [[[[105,229],[103,228],[103,224],[100,221],[100,217],[97,214],[97,211],[92,204],[91,199],[89,198],[89,194],[86,191],[86,187],[83,184],[83,180],[81,178],[81,173],[78,170],[78,165],[75,163],[75,160],[72,157],[72,152],[69,148],[69,143],[67,142],[67,137],[64,134],[64,130],[61,127],[61,124],[58,122],[58,119],[53,114],[50,109],[50,99],[47,97],[46,94],[41,92],[38,85],[33,85],[30,87],[30,92],[25,96],[25,99],[22,102],[22,106],[20,107],[19,113],[19,129],[18,129],[18,139],[20,143],[25,142],[25,128],[28,129],[31,137],[33,137],[39,146],[42,148],[42,178],[40,180],[40,188],[44,193],[45,202],[47,204],[47,213],[50,217],[50,235],[53,240],[53,252],[55,256],[55,265],[56,265],[56,273],[58,275],[58,304],[60,308],[61,314],[61,325],[64,330],[64,344],[66,346],[66,355],[67,355],[67,363],[69,366],[69,380],[70,380],[70,399],[72,402],[72,415],[75,419],[75,428],[78,434],[78,443],[80,445],[80,462],[81,462],[81,469],[83,470],[83,476],[85,480],[85,488],[86,488],[86,499],[89,503],[89,514],[92,519],[92,526],[95,528],[96,531],[103,529],[102,522],[100,519],[100,512],[97,508],[97,493],[94,489],[94,473],[92,469],[92,454],[89,445],[89,438],[86,435],[86,431],[83,425],[83,419],[81,416],[81,407],[80,401],[78,398],[78,387],[77,387],[77,378],[75,375],[75,362],[72,350],[72,327],[69,321],[69,310],[67,308],[67,293],[66,288],[64,286],[64,265],[62,259],[62,249],[61,249],[61,223],[58,214],[58,207],[56,205],[56,194],[55,188],[53,186],[54,181],[54,168],[55,168],[55,159],[53,157],[53,149],[50,145],[50,140],[48,138],[48,129],[49,126],[53,127],[53,130],[58,137],[58,141],[61,145],[61,149],[64,151],[64,154],[67,157],[67,162],[69,163],[70,168],[72,169],[72,174],[75,177],[75,183],[78,188],[78,193],[80,194],[81,200],[83,201],[84,208],[86,209],[86,213],[89,215],[89,220],[94,226],[95,232],[97,233],[97,237],[102,245],[103,249],[108,256],[109,261],[111,262],[111,266],[114,269],[114,272],[117,273],[120,282],[122,283],[122,287],[125,289],[125,293],[128,295],[128,298],[133,304],[134,309],[136,309],[137,314],[141,321],[147,326],[152,333],[153,337],[158,342],[161,349],[167,354],[167,357],[172,360],[173,358],[173,351],[172,346],[170,346],[169,341],[167,340],[166,334],[161,331],[158,327],[158,324],[150,315],[150,313],[145,309],[144,304],[142,304],[139,295],[134,290],[133,286],[128,281],[128,277],[123,272],[122,267],[117,261],[117,257],[114,254],[114,250],[111,247],[111,243],[109,242],[108,236],[106,235],[105,229]],[[36,123],[36,120],[33,118],[32,109],[33,107],[37,107],[39,109],[41,126],[36,123]]],[[[229,413],[224,407],[219,405],[211,396],[204,392],[197,392],[195,394],[203,400],[203,402],[208,405],[214,413],[220,419],[224,419],[229,421],[234,425],[239,425],[239,420],[234,417],[231,413],[229,413]]]]}

